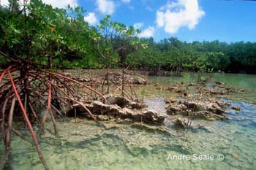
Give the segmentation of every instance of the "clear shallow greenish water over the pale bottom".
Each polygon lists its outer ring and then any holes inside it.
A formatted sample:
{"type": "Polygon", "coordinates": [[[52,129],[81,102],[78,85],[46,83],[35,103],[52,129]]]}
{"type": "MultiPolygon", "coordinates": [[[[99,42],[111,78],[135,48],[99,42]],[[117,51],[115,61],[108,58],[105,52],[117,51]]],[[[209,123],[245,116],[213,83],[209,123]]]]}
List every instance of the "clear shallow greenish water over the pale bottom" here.
{"type": "MultiPolygon", "coordinates": [[[[178,78],[181,79],[181,78],[178,78]]],[[[174,78],[151,77],[159,85],[169,85],[174,78]]],[[[253,92],[256,76],[233,74],[216,75],[216,80],[237,85],[253,92]],[[225,78],[222,78],[225,76],[225,78]]],[[[183,81],[177,80],[176,81],[183,81]]],[[[162,96],[154,87],[140,87],[148,95],[144,100],[150,109],[165,114],[162,96]]],[[[249,96],[244,98],[252,99],[249,96]]],[[[228,110],[230,120],[197,120],[205,125],[200,129],[180,129],[165,121],[169,132],[132,126],[132,122],[101,122],[71,119],[59,120],[59,137],[46,131],[41,140],[43,155],[50,169],[256,169],[256,107],[253,100],[226,100],[241,107],[228,110]],[[249,104],[250,103],[250,104],[249,104]],[[196,157],[193,157],[197,154],[196,157]],[[198,155],[212,155],[212,160],[196,160],[198,155]],[[219,154],[224,159],[218,157],[219,154]],[[189,155],[187,159],[171,159],[174,155],[189,155]],[[219,158],[219,159],[218,159],[219,158]]],[[[170,118],[170,117],[169,117],[170,118]]],[[[48,129],[53,129],[51,123],[48,129]]],[[[35,148],[12,135],[12,166],[6,169],[43,169],[35,148]]],[[[1,152],[2,147],[1,147],[1,152]]]]}

